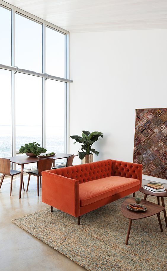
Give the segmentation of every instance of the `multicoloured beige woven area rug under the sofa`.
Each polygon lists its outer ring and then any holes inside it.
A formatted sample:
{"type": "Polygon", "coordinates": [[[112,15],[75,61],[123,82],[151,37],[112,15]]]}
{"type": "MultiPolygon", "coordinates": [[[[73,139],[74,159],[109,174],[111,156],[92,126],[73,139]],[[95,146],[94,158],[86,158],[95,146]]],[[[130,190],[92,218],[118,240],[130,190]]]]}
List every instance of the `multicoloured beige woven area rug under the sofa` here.
{"type": "MultiPolygon", "coordinates": [[[[140,192],[136,195],[144,196],[140,192]]],[[[164,232],[156,215],[133,220],[126,246],[129,221],[121,213],[121,203],[128,197],[81,216],[80,226],[77,218],[55,208],[52,213],[46,208],[12,222],[89,271],[165,271],[167,228],[163,212],[164,232]]],[[[147,199],[156,202],[155,197],[147,199]]]]}

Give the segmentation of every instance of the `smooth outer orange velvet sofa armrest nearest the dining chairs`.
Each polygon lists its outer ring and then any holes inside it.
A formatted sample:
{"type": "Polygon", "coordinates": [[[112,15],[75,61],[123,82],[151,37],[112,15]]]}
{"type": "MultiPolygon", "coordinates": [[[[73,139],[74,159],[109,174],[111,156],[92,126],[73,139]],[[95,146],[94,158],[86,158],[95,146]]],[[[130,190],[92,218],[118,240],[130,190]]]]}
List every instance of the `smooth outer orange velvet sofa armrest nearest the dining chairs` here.
{"type": "Polygon", "coordinates": [[[78,180],[43,171],[42,202],[72,216],[80,216],[78,180]]]}

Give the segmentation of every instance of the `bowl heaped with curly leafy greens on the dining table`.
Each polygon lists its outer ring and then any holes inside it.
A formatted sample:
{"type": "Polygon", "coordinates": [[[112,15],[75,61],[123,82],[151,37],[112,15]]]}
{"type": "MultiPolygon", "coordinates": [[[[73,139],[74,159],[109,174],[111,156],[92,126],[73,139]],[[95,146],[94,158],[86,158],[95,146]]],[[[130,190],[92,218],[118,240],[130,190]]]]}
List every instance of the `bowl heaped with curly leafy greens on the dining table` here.
{"type": "Polygon", "coordinates": [[[33,142],[21,146],[19,153],[25,153],[29,157],[36,157],[40,153],[45,153],[47,150],[43,147],[39,147],[40,144],[33,142]]]}

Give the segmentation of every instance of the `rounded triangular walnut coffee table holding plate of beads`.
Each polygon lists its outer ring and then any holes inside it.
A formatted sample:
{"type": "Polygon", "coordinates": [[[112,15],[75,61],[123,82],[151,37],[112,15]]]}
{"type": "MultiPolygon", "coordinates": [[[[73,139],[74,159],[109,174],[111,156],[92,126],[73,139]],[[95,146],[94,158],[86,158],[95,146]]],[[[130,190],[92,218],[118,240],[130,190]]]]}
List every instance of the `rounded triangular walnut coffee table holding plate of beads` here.
{"type": "Polygon", "coordinates": [[[137,211],[129,210],[127,208],[127,205],[130,203],[136,203],[134,197],[130,197],[129,199],[125,200],[121,205],[121,212],[123,216],[129,219],[128,232],[126,235],[126,242],[125,242],[126,245],[128,244],[129,234],[130,234],[131,224],[132,224],[133,219],[142,219],[149,216],[157,215],[161,232],[163,232],[163,228],[162,228],[162,224],[160,220],[160,212],[162,212],[165,209],[163,206],[160,206],[158,204],[152,203],[147,200],[141,200],[140,204],[145,205],[147,207],[147,210],[143,212],[137,212],[137,211]]]}

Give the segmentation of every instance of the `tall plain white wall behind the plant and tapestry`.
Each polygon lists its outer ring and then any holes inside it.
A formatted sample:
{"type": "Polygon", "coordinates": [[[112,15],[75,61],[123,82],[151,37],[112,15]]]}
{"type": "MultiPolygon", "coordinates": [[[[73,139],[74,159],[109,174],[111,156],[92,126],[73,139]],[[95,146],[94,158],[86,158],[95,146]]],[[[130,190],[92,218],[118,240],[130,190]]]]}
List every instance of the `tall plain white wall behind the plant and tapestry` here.
{"type": "Polygon", "coordinates": [[[70,78],[70,135],[100,131],[94,161],[132,162],[135,109],[167,106],[167,29],[71,33],[70,78]]]}

